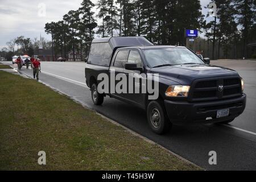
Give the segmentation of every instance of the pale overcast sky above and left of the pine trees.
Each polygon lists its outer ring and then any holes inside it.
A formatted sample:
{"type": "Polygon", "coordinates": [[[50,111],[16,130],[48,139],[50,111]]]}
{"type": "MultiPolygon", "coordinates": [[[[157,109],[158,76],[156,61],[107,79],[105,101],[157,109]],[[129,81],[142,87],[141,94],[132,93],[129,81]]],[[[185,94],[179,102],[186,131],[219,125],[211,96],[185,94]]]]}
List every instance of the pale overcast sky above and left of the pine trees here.
{"type": "MultiPolygon", "coordinates": [[[[204,6],[210,0],[200,1],[203,13],[207,14],[204,6]]],[[[79,9],[81,2],[82,0],[0,0],[0,49],[5,47],[6,42],[20,35],[34,39],[42,34],[49,40],[50,36],[44,32],[44,25],[61,20],[69,10],[79,9]]]]}

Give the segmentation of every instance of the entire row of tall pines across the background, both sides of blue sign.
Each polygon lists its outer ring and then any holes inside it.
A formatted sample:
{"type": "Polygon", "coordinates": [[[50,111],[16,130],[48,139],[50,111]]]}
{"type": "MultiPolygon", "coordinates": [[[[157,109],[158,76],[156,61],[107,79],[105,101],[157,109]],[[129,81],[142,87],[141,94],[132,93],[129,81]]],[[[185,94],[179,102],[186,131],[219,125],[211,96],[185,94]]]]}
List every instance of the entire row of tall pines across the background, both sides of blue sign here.
{"type": "MultiPolygon", "coordinates": [[[[215,0],[217,5],[214,57],[250,58],[256,42],[256,0],[215,0]]],[[[83,0],[78,10],[69,11],[58,22],[45,25],[51,35],[52,55],[69,51],[85,60],[95,36],[145,36],[156,45],[188,46],[212,57],[214,21],[207,22],[199,0],[83,0]],[[97,9],[97,14],[94,12],[97,9]],[[203,35],[188,43],[185,29],[203,35]]],[[[209,18],[210,19],[210,18],[209,18]]],[[[213,20],[213,18],[212,18],[213,20]]],[[[67,58],[67,57],[66,57],[67,58]]]]}

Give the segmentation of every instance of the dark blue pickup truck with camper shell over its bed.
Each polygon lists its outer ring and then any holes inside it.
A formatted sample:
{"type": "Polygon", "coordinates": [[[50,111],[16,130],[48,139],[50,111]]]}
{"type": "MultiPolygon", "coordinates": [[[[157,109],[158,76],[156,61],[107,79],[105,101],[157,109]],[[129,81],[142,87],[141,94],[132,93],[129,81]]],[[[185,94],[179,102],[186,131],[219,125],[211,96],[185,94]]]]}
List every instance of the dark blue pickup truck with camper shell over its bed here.
{"type": "MultiPolygon", "coordinates": [[[[85,77],[95,105],[110,96],[141,107],[157,134],[170,131],[173,124],[230,123],[246,106],[243,80],[236,71],[210,65],[209,59],[202,60],[185,47],[154,46],[143,37],[94,39],[85,77]],[[102,92],[104,88],[99,92],[98,77],[102,73],[111,77],[113,71],[115,76],[122,73],[139,80],[131,90],[143,90],[142,80],[158,75],[158,98],[148,99],[152,94],[148,92],[102,92]]],[[[115,80],[113,86],[118,84],[115,80]]],[[[129,90],[131,85],[126,86],[129,90]]]]}

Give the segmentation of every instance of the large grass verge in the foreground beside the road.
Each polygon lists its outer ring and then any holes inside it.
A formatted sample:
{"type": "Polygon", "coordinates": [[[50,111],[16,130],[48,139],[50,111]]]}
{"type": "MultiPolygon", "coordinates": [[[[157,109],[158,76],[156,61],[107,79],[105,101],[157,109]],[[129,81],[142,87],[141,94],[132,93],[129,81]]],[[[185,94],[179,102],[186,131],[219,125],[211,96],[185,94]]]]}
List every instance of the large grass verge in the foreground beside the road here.
{"type": "Polygon", "coordinates": [[[0,71],[0,84],[1,170],[199,169],[39,82],[0,71]]]}

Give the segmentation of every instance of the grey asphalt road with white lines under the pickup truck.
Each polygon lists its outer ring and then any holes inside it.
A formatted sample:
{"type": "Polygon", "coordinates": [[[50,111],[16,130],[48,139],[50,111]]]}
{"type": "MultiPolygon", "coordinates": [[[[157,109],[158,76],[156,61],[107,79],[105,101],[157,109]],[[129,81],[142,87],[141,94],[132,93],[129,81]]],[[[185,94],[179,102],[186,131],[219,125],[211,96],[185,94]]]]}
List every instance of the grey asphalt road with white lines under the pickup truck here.
{"type": "MultiPolygon", "coordinates": [[[[133,105],[107,97],[102,106],[94,106],[85,85],[84,63],[42,62],[40,80],[205,169],[256,170],[256,61],[222,60],[212,64],[236,69],[244,78],[245,112],[230,125],[174,126],[164,136],[152,133],[145,111],[133,105]],[[210,151],[217,152],[217,165],[209,165],[210,151]]],[[[32,76],[31,69],[23,67],[21,72],[32,76]]]]}

